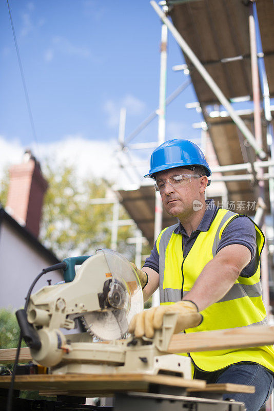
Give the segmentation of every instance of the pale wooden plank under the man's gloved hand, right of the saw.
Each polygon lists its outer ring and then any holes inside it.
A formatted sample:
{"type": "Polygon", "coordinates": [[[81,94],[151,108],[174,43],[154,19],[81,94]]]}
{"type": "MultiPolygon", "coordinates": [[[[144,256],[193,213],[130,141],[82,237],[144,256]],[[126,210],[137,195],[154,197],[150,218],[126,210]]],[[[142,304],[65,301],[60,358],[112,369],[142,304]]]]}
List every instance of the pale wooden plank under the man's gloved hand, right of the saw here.
{"type": "Polygon", "coordinates": [[[257,347],[274,343],[274,326],[252,326],[225,330],[174,334],[168,352],[210,351],[257,347]]]}

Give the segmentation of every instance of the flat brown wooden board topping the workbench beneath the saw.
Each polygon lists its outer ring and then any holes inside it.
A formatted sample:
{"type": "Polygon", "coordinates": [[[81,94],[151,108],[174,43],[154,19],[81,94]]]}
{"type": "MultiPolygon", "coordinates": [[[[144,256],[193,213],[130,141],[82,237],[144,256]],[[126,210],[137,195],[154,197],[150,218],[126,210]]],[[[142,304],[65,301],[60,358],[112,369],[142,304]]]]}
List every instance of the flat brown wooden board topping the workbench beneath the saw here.
{"type": "MultiPolygon", "coordinates": [[[[0,376],[0,387],[8,388],[11,377],[0,376]]],[[[16,376],[15,389],[46,391],[48,395],[73,391],[73,393],[92,396],[92,393],[115,393],[119,391],[147,391],[150,384],[170,385],[177,387],[203,388],[202,380],[185,380],[181,377],[150,376],[146,374],[38,374],[16,376]]]]}

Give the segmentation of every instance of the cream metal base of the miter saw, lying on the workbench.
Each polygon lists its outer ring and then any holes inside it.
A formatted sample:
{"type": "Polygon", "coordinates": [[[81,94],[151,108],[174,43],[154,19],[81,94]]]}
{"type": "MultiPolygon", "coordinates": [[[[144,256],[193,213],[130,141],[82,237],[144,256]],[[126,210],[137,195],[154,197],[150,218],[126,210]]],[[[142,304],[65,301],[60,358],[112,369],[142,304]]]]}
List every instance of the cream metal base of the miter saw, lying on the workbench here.
{"type": "Polygon", "coordinates": [[[62,361],[50,368],[52,374],[147,373],[191,379],[191,360],[178,354],[163,354],[153,344],[128,346],[124,340],[112,343],[73,342],[62,361]]]}

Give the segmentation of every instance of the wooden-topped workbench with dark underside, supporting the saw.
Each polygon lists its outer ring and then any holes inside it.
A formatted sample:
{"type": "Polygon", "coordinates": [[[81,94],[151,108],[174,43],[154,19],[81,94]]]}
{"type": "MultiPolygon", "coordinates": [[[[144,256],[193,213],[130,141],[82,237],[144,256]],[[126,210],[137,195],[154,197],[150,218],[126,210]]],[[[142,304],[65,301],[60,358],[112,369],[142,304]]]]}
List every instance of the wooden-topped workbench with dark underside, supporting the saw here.
{"type": "MultiPolygon", "coordinates": [[[[0,411],[6,409],[6,397],[10,376],[0,377],[0,411]]],[[[25,400],[14,398],[13,409],[35,411],[50,409],[63,411],[69,409],[95,410],[94,406],[83,404],[86,397],[114,396],[114,411],[128,411],[140,407],[150,411],[181,411],[182,407],[199,411],[227,411],[228,403],[222,401],[223,393],[254,393],[255,388],[237,384],[206,384],[202,380],[185,380],[181,377],[145,374],[121,375],[22,375],[16,376],[14,388],[19,390],[38,390],[40,395],[54,396],[56,401],[25,400]],[[194,397],[193,397],[194,395],[194,397]],[[76,407],[76,408],[75,408],[76,407]],[[172,408],[172,410],[170,409],[172,408]],[[213,407],[213,408],[211,408],[213,407]]],[[[15,393],[16,393],[15,391],[15,393]]],[[[243,403],[233,402],[230,411],[244,411],[243,403]]],[[[110,411],[110,409],[101,410],[110,411]]]]}

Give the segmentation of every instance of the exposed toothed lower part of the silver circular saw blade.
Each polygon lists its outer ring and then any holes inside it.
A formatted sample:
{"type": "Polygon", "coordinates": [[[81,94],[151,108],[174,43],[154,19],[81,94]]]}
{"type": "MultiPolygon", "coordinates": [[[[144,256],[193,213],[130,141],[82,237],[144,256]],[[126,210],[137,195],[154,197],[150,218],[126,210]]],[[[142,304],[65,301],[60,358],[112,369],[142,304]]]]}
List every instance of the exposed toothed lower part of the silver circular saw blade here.
{"type": "Polygon", "coordinates": [[[83,315],[86,330],[100,340],[118,340],[128,331],[124,310],[93,311],[83,315]]]}

